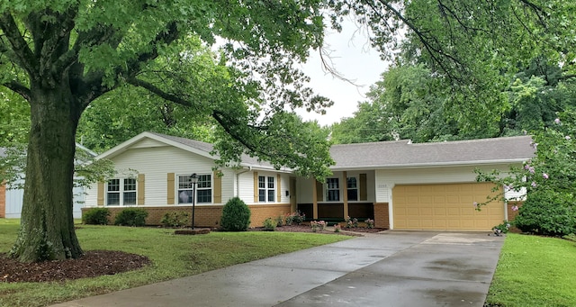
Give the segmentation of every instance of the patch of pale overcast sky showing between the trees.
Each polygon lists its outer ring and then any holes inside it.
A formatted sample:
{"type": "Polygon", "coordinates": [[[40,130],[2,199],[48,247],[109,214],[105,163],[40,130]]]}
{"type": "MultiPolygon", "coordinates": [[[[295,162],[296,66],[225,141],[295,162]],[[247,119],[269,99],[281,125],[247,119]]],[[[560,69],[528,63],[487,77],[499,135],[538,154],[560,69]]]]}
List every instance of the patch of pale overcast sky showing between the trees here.
{"type": "Polygon", "coordinates": [[[353,116],[358,102],[365,101],[365,93],[388,68],[378,51],[370,47],[365,32],[358,31],[355,23],[344,23],[342,32],[330,32],[325,41],[325,47],[331,50],[333,68],[356,85],[333,77],[322,68],[318,52],[311,53],[311,58],[302,65],[302,71],[311,77],[310,86],[316,94],[328,97],[334,105],[324,115],[305,110],[297,113],[305,121],[317,120],[320,125],[353,116]]]}

